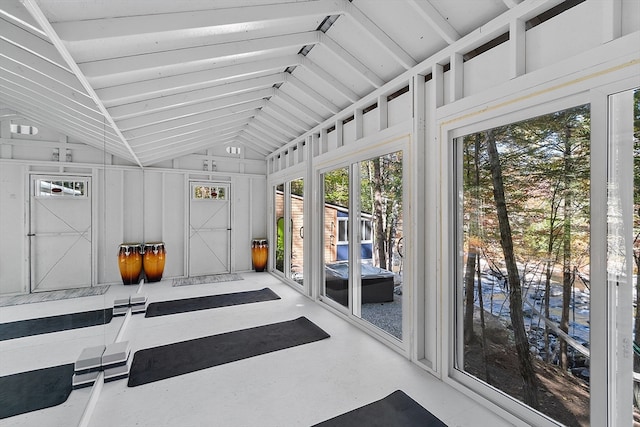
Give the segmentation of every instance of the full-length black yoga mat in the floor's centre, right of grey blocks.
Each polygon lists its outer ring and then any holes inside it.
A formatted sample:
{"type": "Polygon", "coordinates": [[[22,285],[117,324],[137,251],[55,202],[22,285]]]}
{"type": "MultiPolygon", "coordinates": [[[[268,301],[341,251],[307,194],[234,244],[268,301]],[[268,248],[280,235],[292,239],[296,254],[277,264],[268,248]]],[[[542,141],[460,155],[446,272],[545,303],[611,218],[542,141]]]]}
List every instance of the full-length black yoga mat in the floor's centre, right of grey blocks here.
{"type": "Polygon", "coordinates": [[[129,387],[329,338],[306,317],[137,351],[129,387]]]}

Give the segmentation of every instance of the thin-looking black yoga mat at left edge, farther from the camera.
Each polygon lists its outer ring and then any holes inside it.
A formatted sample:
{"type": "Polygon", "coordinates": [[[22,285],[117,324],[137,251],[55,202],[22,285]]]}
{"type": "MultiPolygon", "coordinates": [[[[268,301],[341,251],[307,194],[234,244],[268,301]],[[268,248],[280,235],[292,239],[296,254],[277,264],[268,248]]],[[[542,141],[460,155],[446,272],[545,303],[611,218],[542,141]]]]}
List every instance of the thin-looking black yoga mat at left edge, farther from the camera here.
{"type": "Polygon", "coordinates": [[[60,314],[37,319],[19,320],[17,322],[0,323],[0,341],[31,335],[48,334],[68,329],[105,325],[111,322],[113,309],[84,311],[80,313],[60,314]]]}

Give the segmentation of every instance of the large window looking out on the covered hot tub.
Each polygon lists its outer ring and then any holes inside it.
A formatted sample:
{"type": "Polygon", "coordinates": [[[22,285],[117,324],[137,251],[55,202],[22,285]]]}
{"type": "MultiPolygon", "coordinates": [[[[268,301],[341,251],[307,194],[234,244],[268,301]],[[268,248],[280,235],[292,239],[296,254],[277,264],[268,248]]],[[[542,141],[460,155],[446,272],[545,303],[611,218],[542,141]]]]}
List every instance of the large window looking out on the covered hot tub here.
{"type": "Polygon", "coordinates": [[[322,182],[324,295],[402,340],[402,151],[327,171],[322,182]]]}

